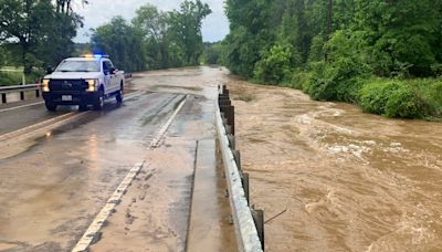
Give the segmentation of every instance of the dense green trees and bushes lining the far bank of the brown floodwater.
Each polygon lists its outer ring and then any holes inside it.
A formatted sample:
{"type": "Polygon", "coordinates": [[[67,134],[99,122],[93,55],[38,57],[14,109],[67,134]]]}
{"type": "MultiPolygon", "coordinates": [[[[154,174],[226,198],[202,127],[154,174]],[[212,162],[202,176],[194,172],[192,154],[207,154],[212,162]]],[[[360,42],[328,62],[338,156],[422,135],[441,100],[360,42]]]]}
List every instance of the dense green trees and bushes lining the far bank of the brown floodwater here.
{"type": "Polygon", "coordinates": [[[391,117],[441,115],[441,0],[227,0],[227,14],[221,62],[235,74],[391,117]]]}

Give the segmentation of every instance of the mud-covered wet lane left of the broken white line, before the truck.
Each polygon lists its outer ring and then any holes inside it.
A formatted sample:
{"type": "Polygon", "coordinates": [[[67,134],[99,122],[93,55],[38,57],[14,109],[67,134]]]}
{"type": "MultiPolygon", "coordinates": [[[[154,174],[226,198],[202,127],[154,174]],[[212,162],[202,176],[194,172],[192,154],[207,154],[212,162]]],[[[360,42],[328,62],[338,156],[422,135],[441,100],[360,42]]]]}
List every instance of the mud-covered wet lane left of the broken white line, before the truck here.
{"type": "Polygon", "coordinates": [[[4,242],[19,250],[72,246],[128,169],[143,161],[146,143],[180,98],[143,94],[122,107],[109,104],[1,159],[0,249],[4,242]]]}

